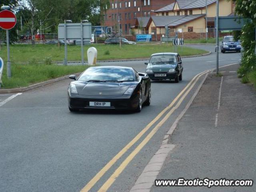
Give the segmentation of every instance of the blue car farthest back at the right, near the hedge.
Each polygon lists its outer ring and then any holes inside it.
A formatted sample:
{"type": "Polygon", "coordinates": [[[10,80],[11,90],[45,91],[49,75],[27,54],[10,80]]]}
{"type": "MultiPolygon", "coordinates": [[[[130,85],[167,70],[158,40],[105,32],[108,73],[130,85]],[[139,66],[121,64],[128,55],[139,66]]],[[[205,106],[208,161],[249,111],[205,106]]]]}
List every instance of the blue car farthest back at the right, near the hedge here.
{"type": "Polygon", "coordinates": [[[240,41],[235,41],[233,36],[224,36],[220,46],[222,53],[226,51],[241,52],[241,48],[240,41]]]}

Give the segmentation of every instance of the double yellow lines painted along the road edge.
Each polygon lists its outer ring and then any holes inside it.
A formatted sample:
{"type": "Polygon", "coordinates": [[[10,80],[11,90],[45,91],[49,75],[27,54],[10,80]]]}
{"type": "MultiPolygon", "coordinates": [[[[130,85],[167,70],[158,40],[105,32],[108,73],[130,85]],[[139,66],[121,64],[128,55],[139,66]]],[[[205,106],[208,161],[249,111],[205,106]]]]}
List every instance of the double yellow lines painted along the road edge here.
{"type": "Polygon", "coordinates": [[[110,160],[95,176],[82,188],[80,192],[88,192],[95,184],[102,178],[102,176],[116,163],[118,159],[122,157],[125,152],[130,149],[143,135],[144,133],[156,122],[158,121],[170,108],[174,106],[174,104],[178,101],[178,99],[182,96],[182,94],[185,92],[185,94],[180,98],[178,103],[162,118],[162,120],[152,129],[152,131],[144,138],[144,140],[132,151],[132,153],[122,162],[122,164],[115,170],[115,172],[108,178],[108,180],[102,185],[102,187],[98,190],[99,192],[106,192],[108,188],[114,183],[116,178],[122,173],[122,171],[126,168],[126,166],[130,163],[130,161],[140,152],[140,150],[148,143],[148,141],[154,136],[154,134],[158,131],[158,129],[168,120],[170,115],[180,106],[184,98],[188,95],[190,90],[195,86],[196,82],[198,82],[199,78],[206,74],[209,70],[206,70],[198,75],[196,75],[188,84],[187,86],[178,94],[178,96],[172,101],[172,103],[167,106],[162,112],[160,112],[154,120],[152,120],[141,132],[136,135],[133,140],[131,140],[112,160],[110,160]]]}

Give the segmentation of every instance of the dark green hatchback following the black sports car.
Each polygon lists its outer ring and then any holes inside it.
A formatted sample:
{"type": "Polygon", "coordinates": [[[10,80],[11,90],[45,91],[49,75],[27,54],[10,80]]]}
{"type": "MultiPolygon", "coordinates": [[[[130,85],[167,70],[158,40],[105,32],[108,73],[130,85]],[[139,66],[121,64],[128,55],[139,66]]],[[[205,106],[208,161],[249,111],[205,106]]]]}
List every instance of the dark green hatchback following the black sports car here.
{"type": "Polygon", "coordinates": [[[182,80],[183,66],[178,53],[152,54],[146,73],[151,80],[174,79],[176,83],[182,80]]]}

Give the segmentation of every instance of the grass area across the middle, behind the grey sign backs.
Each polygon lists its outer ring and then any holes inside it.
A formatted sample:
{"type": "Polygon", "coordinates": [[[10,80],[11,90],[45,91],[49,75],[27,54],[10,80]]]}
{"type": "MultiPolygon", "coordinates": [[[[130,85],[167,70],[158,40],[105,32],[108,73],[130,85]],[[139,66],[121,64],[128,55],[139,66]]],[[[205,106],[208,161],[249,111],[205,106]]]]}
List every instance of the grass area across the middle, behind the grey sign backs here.
{"type": "MultiPolygon", "coordinates": [[[[130,58],[149,58],[151,54],[156,52],[178,52],[181,56],[191,56],[207,53],[205,50],[193,49],[186,46],[172,46],[171,44],[159,45],[105,45],[93,44],[84,46],[84,60],[87,60],[86,51],[89,47],[94,46],[98,50],[97,60],[114,60],[114,59],[130,59],[130,58]]],[[[10,60],[18,63],[34,63],[44,62],[50,58],[52,61],[64,60],[64,46],[58,48],[57,45],[12,45],[10,46],[10,60]]],[[[6,62],[7,52],[6,46],[2,46],[0,57],[6,62]]],[[[68,61],[81,60],[81,47],[68,46],[68,61]]]]}

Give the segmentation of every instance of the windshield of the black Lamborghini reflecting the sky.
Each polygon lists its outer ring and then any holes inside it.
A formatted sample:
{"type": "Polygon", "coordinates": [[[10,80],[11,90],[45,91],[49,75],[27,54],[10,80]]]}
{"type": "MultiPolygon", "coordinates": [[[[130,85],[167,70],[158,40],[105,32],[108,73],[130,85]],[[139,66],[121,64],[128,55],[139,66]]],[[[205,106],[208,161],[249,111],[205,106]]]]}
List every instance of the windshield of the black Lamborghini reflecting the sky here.
{"type": "Polygon", "coordinates": [[[79,78],[86,82],[132,82],[134,71],[124,68],[88,68],[79,78]]]}

